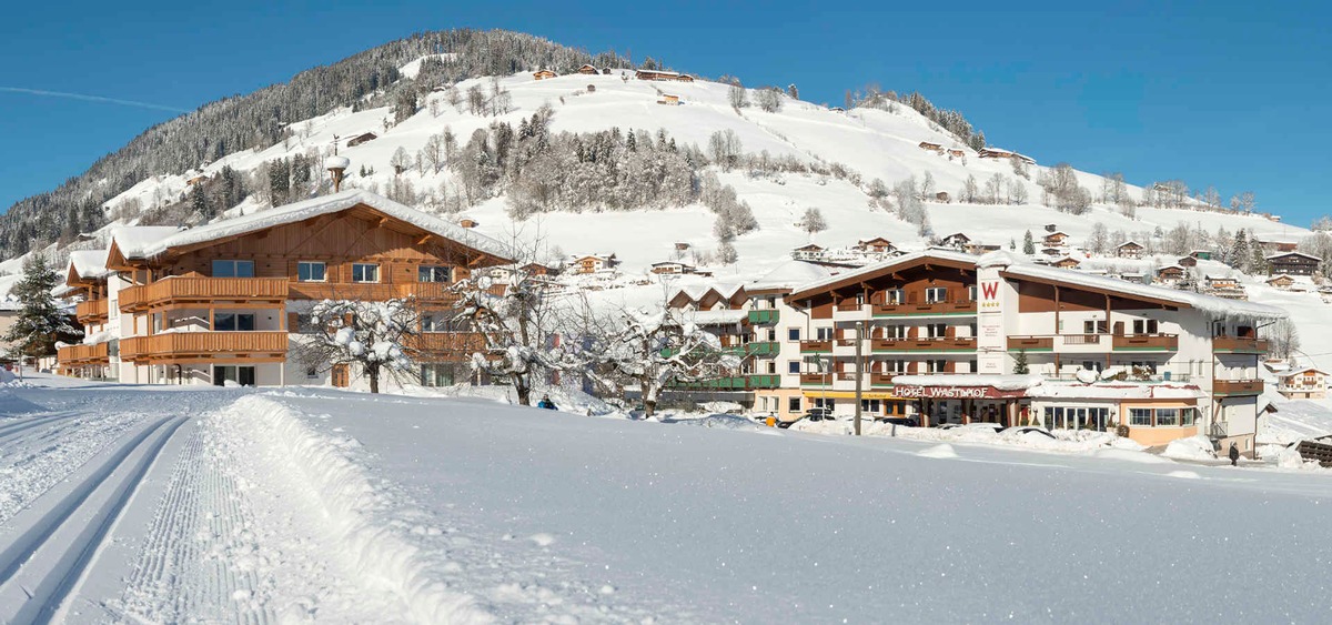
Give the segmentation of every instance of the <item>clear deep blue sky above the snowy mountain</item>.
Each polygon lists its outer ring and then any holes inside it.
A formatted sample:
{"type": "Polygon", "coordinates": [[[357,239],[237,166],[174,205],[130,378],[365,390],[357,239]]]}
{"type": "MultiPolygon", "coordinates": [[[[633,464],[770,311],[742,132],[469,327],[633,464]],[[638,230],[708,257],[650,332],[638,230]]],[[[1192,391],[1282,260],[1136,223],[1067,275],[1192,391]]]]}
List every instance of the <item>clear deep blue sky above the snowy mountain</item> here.
{"type": "Polygon", "coordinates": [[[0,27],[0,211],[176,113],[413,31],[531,32],[805,100],[916,89],[1046,164],[1332,212],[1332,11],[1307,3],[21,3],[0,27]]]}

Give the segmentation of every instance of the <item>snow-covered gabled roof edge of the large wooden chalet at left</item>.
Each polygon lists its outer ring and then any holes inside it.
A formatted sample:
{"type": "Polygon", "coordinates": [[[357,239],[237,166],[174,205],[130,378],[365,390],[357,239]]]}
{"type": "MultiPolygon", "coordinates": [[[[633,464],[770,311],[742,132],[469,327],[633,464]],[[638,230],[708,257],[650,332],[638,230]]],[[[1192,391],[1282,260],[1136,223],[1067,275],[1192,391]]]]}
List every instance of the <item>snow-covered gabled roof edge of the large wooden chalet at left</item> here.
{"type": "Polygon", "coordinates": [[[509,249],[507,245],[494,239],[490,239],[485,235],[481,235],[470,228],[462,228],[450,224],[433,215],[425,213],[405,204],[398,204],[378,193],[372,193],[369,191],[362,191],[362,189],[349,189],[338,193],[313,197],[309,200],[246,215],[244,217],[216,221],[208,225],[201,225],[198,228],[180,231],[174,235],[165,237],[153,237],[152,240],[135,241],[135,244],[128,244],[125,240],[116,237],[116,244],[120,247],[120,253],[124,255],[127,259],[152,257],[161,255],[170,248],[181,245],[194,245],[200,243],[212,241],[214,239],[245,235],[249,232],[262,231],[265,228],[272,228],[276,225],[304,221],[310,217],[346,211],[357,204],[365,204],[370,208],[374,208],[376,211],[382,212],[384,215],[388,215],[389,217],[405,221],[408,224],[412,224],[433,235],[449,239],[452,241],[457,241],[478,252],[484,252],[500,259],[510,259],[513,256],[513,252],[509,249]]]}

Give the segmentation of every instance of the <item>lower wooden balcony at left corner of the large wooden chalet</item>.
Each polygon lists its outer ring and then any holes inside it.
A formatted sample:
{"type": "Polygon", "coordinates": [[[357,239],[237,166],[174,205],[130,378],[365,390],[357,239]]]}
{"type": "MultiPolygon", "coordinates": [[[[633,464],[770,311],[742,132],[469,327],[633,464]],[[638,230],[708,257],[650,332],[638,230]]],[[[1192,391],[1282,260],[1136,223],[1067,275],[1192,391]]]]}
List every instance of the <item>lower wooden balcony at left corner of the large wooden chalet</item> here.
{"type": "Polygon", "coordinates": [[[286,360],[286,332],[169,332],[120,341],[136,364],[254,364],[286,360]]]}

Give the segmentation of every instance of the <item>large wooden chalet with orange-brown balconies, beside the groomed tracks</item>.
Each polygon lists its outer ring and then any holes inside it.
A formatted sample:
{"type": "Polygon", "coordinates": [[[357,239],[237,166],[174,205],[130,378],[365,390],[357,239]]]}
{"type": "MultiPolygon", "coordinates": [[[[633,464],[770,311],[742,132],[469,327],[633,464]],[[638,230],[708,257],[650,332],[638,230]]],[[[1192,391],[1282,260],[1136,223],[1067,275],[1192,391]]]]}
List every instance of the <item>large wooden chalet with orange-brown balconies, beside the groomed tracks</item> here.
{"type": "MultiPolygon", "coordinates": [[[[422,384],[453,384],[478,337],[453,332],[449,287],[510,263],[507,249],[421,211],[345,191],[193,229],[128,227],[107,251],[71,256],[84,344],[60,368],[139,384],[356,384],[346,365],[306,366],[314,303],[413,297],[408,345],[422,384]]],[[[465,376],[465,373],[462,373],[465,376]]]]}

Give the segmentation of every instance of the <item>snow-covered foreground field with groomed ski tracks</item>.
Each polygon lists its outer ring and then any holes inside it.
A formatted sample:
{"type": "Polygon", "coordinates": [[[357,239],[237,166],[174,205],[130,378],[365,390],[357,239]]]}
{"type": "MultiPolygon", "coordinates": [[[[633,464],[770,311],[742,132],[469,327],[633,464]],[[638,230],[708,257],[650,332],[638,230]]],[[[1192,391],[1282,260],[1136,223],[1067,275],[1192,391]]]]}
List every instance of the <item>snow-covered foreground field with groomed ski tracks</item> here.
{"type": "Polygon", "coordinates": [[[1327,470],[501,397],[32,382],[0,390],[0,621],[1231,622],[1332,609],[1327,470]]]}

